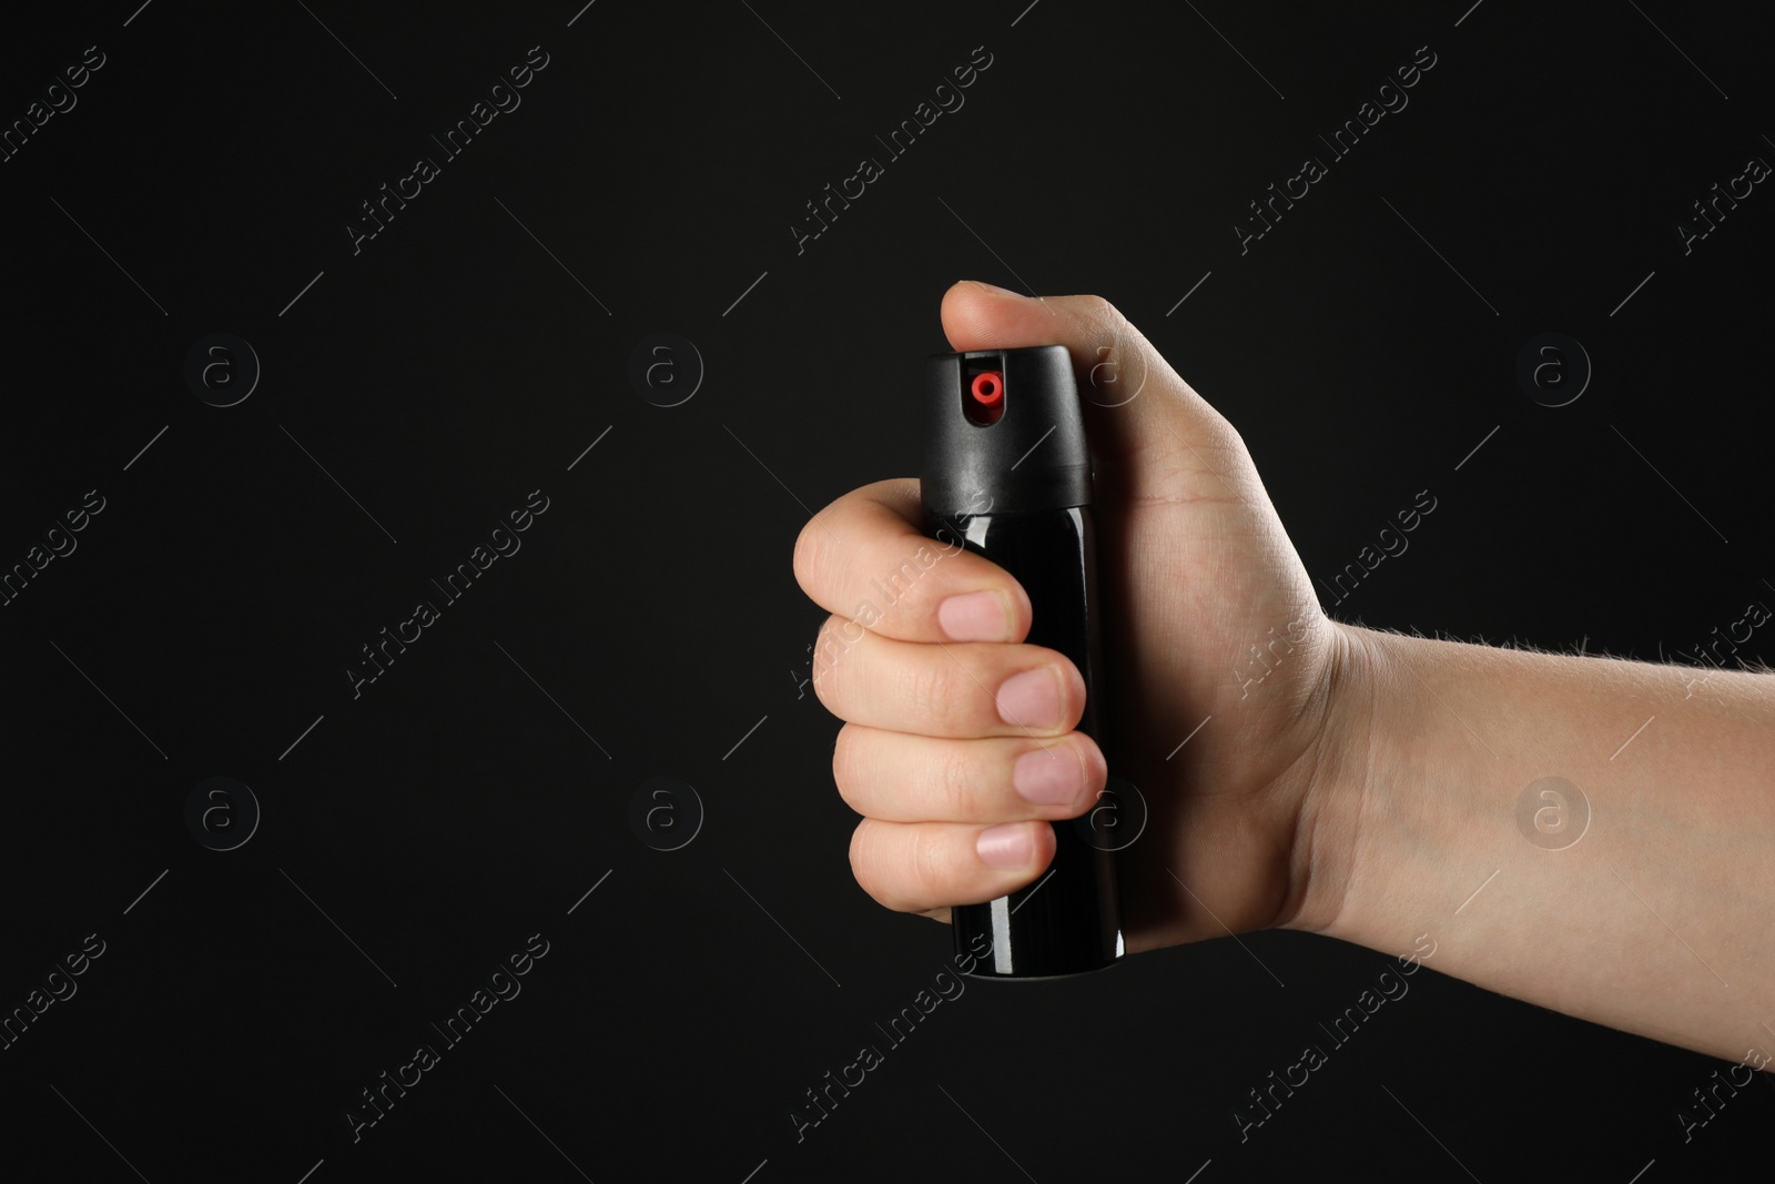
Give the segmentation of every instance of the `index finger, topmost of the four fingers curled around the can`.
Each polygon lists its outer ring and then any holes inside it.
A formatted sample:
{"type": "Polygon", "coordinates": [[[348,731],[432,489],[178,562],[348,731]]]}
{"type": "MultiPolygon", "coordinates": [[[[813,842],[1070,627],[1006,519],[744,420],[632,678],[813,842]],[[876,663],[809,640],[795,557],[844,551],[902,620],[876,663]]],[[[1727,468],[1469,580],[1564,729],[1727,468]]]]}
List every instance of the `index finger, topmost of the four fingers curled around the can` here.
{"type": "Polygon", "coordinates": [[[928,538],[918,481],[852,490],[795,540],[795,582],[827,612],[895,641],[1022,641],[1030,596],[944,527],[928,538]]]}

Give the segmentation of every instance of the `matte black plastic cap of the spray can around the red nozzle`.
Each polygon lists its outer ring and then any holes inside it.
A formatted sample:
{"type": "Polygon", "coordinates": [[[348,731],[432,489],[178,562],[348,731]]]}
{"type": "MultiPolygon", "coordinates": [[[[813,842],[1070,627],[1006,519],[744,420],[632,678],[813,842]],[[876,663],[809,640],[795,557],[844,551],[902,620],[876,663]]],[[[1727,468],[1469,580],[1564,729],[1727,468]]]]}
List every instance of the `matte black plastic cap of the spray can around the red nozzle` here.
{"type": "Polygon", "coordinates": [[[934,353],[925,396],[927,513],[1067,509],[1092,501],[1092,458],[1067,346],[934,353]],[[976,375],[999,371],[1003,410],[969,417],[976,375]]]}

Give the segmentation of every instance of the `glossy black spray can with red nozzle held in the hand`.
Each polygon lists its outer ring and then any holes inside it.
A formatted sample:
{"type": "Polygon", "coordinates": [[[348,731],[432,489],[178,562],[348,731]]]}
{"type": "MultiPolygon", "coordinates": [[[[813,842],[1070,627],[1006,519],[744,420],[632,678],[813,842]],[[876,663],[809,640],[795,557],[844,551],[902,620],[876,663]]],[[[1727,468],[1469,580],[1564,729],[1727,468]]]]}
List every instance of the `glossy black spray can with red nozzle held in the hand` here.
{"type": "MultiPolygon", "coordinates": [[[[928,387],[925,531],[946,545],[960,541],[1022,584],[1033,609],[1026,641],[1079,667],[1079,731],[1100,742],[1092,460],[1072,359],[1065,346],[937,353],[928,387]]],[[[1115,850],[1099,838],[1093,813],[1053,824],[1054,861],[1031,884],[951,909],[957,953],[978,951],[980,934],[992,941],[990,955],[974,962],[976,976],[1077,975],[1122,957],[1115,850]]]]}

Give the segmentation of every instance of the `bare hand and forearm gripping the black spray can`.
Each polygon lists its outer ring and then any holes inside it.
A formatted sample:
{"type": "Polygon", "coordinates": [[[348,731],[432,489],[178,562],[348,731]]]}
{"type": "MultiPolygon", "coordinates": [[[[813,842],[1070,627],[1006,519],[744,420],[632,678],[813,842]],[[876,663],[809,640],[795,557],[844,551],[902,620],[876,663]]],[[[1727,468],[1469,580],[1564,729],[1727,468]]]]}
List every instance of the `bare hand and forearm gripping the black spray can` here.
{"type": "MultiPolygon", "coordinates": [[[[1404,955],[1429,934],[1436,969],[1480,987],[1770,1062],[1775,680],[1333,621],[1239,435],[1108,302],[960,282],[943,327],[955,350],[1065,344],[1081,378],[1104,747],[1150,809],[1120,854],[1129,953],[1282,927],[1404,955]],[[1582,799],[1542,797],[1550,776],[1582,799]]],[[[832,774],[863,815],[857,884],[948,920],[1033,882],[1049,824],[1083,815],[1108,765],[1074,731],[1077,669],[1022,643],[1030,600],[987,559],[946,554],[852,620],[872,579],[930,547],[918,524],[918,481],[868,485],[793,561],[832,612],[816,653],[845,630],[815,689],[847,721],[832,774]]]]}

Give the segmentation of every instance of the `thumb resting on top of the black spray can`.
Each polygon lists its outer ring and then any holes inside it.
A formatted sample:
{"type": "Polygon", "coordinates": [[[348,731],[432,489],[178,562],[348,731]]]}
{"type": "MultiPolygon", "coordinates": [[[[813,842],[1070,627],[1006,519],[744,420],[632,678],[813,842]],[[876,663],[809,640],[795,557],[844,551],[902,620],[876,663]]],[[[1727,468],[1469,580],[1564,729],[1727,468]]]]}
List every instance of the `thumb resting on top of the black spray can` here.
{"type": "Polygon", "coordinates": [[[1104,493],[1184,501],[1241,497],[1257,481],[1244,442],[1102,296],[1021,296],[978,280],[943,295],[950,348],[1061,344],[1072,353],[1104,493]]]}

